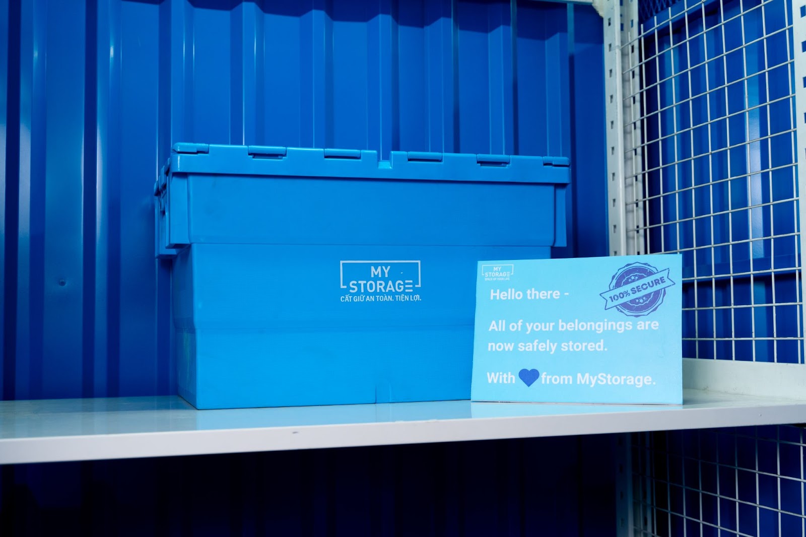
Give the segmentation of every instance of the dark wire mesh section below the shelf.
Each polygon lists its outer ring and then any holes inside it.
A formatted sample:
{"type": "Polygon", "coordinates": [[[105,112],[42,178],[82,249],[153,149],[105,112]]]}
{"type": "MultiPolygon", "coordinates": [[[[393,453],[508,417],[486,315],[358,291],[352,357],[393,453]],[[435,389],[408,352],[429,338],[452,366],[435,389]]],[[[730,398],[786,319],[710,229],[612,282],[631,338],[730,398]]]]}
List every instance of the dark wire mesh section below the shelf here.
{"type": "Polygon", "coordinates": [[[741,427],[632,435],[634,537],[794,537],[804,431],[741,427]]]}

